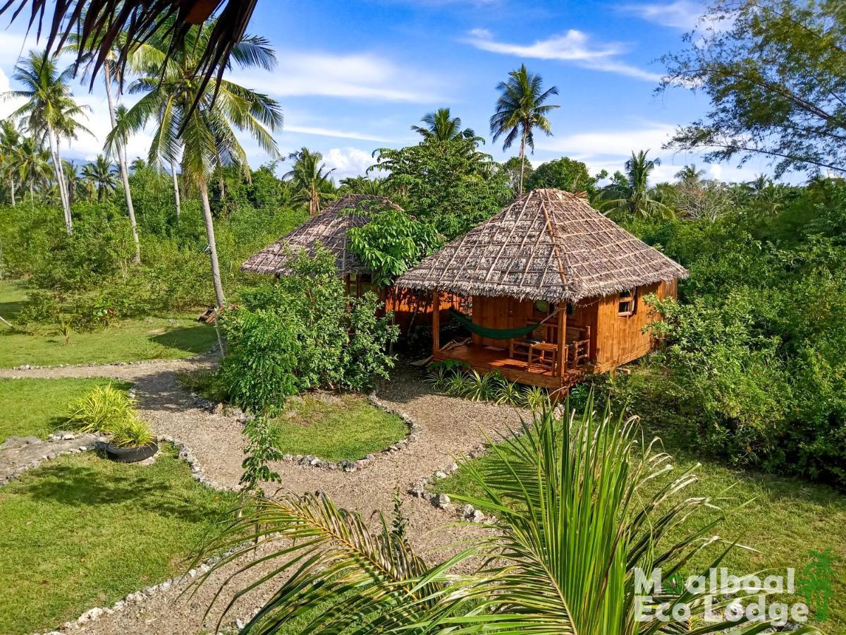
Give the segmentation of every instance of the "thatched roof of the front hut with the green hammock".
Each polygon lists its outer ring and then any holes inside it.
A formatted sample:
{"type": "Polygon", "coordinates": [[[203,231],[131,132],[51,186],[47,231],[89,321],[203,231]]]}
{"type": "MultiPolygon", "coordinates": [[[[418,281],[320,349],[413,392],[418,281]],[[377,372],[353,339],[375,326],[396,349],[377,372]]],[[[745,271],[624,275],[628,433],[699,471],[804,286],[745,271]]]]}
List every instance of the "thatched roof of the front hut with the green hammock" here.
{"type": "Polygon", "coordinates": [[[687,270],[579,196],[534,190],[397,280],[409,289],[578,302],[687,270]]]}

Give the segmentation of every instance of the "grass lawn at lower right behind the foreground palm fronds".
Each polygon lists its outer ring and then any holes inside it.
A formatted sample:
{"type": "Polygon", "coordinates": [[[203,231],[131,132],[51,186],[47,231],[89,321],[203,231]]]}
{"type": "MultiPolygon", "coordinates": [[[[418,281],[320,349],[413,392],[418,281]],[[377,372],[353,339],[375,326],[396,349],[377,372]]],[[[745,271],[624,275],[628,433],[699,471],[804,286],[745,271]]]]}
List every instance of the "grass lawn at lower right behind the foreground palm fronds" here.
{"type": "MultiPolygon", "coordinates": [[[[722,565],[730,572],[754,573],[767,569],[770,571],[766,575],[784,575],[788,567],[793,567],[799,579],[810,562],[810,549],[832,549],[836,559],[835,582],[828,620],[817,626],[827,633],[846,633],[846,531],[843,530],[846,527],[846,495],[797,478],[731,470],[718,461],[690,456],[678,447],[667,446],[667,451],[675,457],[673,472],[681,473],[697,462],[702,464],[695,472],[699,483],[685,489],[685,496],[717,496],[732,487],[725,494],[730,500],[722,503],[724,508],[751,501],[742,509],[729,513],[718,529],[722,538],[737,539],[740,544],[760,552],[734,549],[722,565]]],[[[491,461],[490,455],[472,460],[482,472],[491,461]]],[[[655,487],[658,484],[655,483],[655,487]]],[[[482,490],[464,467],[459,467],[459,471],[448,478],[431,483],[431,489],[445,494],[483,497],[482,490]]],[[[699,516],[698,524],[702,524],[704,517],[699,516]]],[[[706,551],[706,555],[695,560],[693,568],[708,566],[714,557],[716,551],[706,551]]],[[[689,570],[687,573],[694,572],[689,570]]],[[[794,601],[804,600],[794,598],[794,601]]]]}

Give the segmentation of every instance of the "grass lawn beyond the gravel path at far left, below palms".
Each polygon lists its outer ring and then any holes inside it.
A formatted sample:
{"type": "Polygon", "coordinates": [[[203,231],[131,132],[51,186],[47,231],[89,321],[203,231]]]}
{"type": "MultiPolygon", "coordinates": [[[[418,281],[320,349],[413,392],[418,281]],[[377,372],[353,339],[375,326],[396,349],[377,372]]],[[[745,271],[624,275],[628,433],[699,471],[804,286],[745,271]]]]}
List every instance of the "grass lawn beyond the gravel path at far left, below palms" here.
{"type": "MultiPolygon", "coordinates": [[[[0,281],[0,316],[14,324],[25,297],[21,284],[0,281]]],[[[0,368],[180,359],[209,351],[216,341],[213,327],[185,315],[124,320],[93,333],[72,333],[67,345],[52,324],[30,335],[0,323],[0,368]]]]}

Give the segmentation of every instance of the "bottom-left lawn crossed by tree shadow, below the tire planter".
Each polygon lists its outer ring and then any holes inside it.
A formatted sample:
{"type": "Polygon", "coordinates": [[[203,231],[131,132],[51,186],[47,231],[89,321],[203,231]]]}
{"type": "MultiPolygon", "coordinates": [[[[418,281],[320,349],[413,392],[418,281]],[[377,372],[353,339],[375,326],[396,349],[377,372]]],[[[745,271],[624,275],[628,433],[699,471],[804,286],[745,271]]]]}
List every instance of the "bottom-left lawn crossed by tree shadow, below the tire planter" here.
{"type": "Polygon", "coordinates": [[[184,572],[234,499],[166,450],[150,467],[63,456],[0,489],[0,632],[48,631],[184,572]]]}

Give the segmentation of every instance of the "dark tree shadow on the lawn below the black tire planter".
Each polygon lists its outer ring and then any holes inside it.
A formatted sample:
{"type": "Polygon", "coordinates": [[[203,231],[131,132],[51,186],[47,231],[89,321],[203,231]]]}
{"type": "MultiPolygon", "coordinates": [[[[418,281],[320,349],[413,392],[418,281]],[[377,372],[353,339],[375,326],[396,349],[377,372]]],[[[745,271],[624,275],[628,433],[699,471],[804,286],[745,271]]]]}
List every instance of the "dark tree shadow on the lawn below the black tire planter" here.
{"type": "MultiPolygon", "coordinates": [[[[155,472],[126,475],[85,465],[53,464],[41,468],[38,478],[22,485],[16,493],[36,501],[52,501],[80,508],[131,506],[135,510],[178,517],[188,522],[207,522],[216,514],[211,500],[206,507],[174,489],[173,483],[156,478],[155,472]]],[[[115,509],[114,512],[120,513],[120,510],[115,509]]]]}

